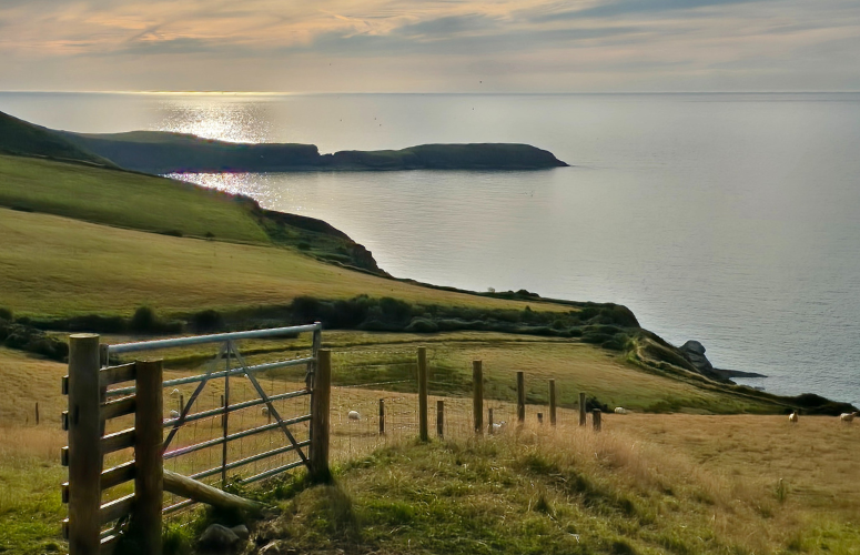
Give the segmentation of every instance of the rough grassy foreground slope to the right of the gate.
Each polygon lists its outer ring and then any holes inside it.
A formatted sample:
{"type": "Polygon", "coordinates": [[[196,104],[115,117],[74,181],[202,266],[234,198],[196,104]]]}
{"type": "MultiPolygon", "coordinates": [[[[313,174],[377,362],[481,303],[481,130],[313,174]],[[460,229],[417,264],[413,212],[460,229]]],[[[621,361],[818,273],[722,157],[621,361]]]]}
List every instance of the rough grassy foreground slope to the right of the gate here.
{"type": "Polygon", "coordinates": [[[817,466],[850,465],[822,484],[790,463],[773,467],[728,456],[701,465],[698,446],[672,446],[689,431],[718,437],[726,424],[736,428],[733,417],[644,415],[630,427],[650,418],[665,436],[544,426],[489,440],[388,447],[347,464],[335,486],[295,496],[290,487],[275,490],[271,497],[286,498],[282,516],[260,526],[255,539],[301,553],[860,551],[852,524],[860,506],[860,474],[851,464],[860,455],[857,426],[834,435],[832,418],[810,418],[800,430],[783,418],[746,417],[743,437],[735,443],[750,458],[768,457],[775,443],[768,434],[779,427],[783,441],[820,453],[817,466]]]}

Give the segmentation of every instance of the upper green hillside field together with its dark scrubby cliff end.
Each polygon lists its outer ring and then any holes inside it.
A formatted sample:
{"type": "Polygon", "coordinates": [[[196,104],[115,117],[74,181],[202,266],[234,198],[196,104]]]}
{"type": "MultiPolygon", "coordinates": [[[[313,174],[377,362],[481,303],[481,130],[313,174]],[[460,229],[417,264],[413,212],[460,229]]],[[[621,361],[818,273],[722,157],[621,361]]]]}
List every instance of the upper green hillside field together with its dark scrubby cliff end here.
{"type": "Polygon", "coordinates": [[[169,235],[275,243],[382,273],[364,246],[325,222],[164,178],[0,154],[0,206],[169,235]]]}

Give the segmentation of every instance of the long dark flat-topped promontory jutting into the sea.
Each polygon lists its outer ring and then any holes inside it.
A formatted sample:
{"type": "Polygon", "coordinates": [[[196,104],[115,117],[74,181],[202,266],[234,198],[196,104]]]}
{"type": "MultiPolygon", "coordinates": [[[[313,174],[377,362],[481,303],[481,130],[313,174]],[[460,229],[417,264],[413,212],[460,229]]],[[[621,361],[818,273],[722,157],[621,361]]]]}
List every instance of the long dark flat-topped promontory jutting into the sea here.
{"type": "Polygon", "coordinates": [[[320,154],[314,144],[231,143],[192,134],[132,131],[61,132],[69,142],[127,170],[145,173],[221,173],[361,170],[543,170],[566,167],[528,144],[422,144],[402,150],[346,150],[320,154]]]}

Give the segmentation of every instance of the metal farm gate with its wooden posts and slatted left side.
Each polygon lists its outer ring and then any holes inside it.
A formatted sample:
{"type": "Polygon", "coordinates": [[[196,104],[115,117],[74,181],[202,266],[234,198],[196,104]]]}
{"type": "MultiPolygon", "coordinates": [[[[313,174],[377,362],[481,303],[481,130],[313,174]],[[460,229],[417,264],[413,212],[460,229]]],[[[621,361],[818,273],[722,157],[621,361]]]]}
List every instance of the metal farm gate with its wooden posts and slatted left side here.
{"type": "Polygon", "coordinates": [[[318,322],[120,344],[72,335],[63,379],[69,446],[62,452],[69,467],[62,497],[70,555],[111,553],[125,534],[133,534],[144,553],[160,554],[163,514],[200,501],[243,502],[206,480],[220,478],[223,490],[230,473],[245,471],[239,481],[249,484],[299,466],[314,480],[327,480],[331,353],[321,343],[318,322]],[[307,346],[264,344],[303,333],[312,334],[307,346]],[[243,354],[240,341],[259,344],[243,354]],[[217,345],[204,369],[169,380],[161,360],[109,365],[120,356],[164,350],[179,350],[179,359],[193,362],[200,353],[188,347],[204,344],[217,345]],[[279,350],[304,356],[247,362],[279,350]],[[297,383],[272,375],[296,366],[304,369],[297,383]],[[134,384],[117,386],[124,382],[134,384]]]}

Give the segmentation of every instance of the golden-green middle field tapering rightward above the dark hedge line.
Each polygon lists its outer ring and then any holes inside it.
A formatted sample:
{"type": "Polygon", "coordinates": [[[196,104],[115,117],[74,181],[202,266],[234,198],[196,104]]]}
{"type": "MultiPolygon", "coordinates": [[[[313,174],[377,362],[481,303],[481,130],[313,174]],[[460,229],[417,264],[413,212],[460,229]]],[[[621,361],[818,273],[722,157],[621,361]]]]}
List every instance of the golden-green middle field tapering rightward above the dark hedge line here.
{"type": "Polygon", "coordinates": [[[462,306],[569,307],[431,290],[324,264],[293,251],[172,238],[0,209],[0,306],[19,315],[162,313],[358,294],[462,306]]]}

